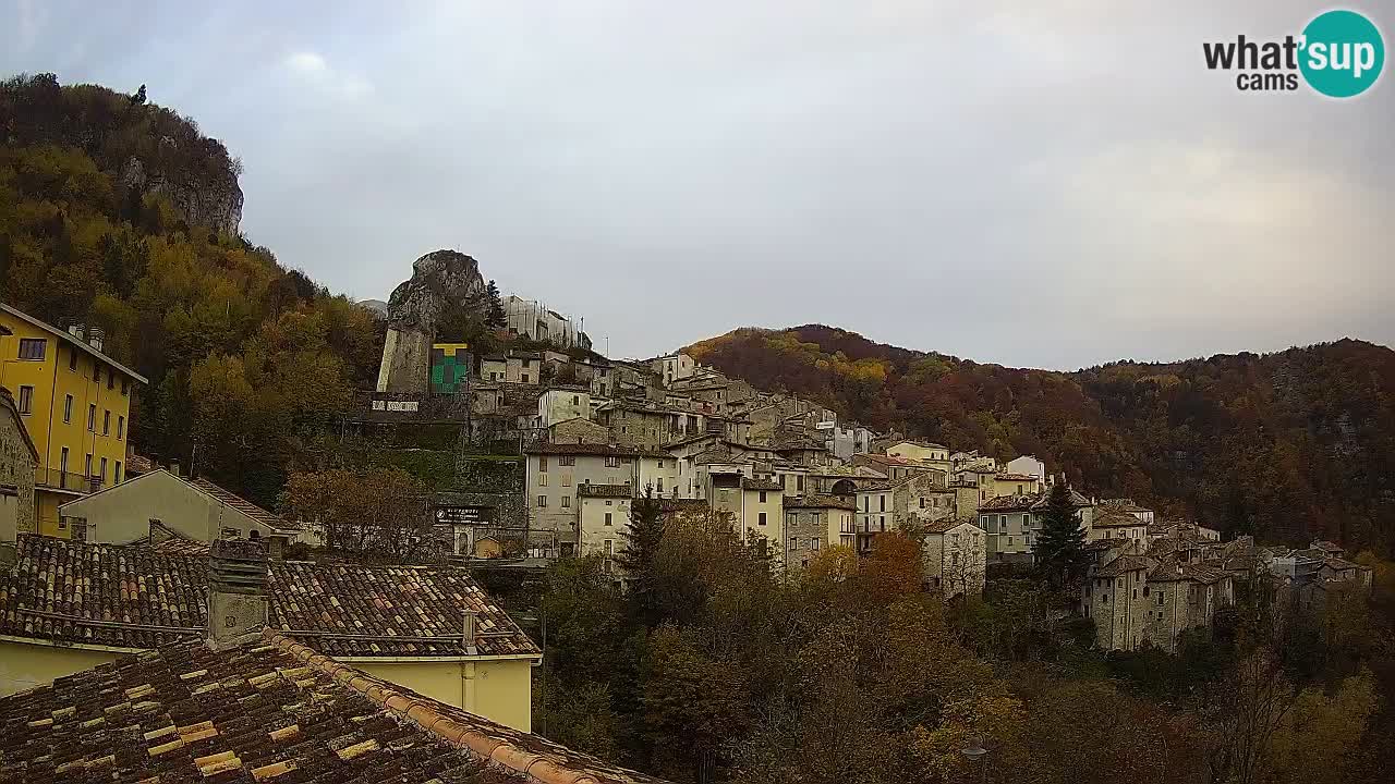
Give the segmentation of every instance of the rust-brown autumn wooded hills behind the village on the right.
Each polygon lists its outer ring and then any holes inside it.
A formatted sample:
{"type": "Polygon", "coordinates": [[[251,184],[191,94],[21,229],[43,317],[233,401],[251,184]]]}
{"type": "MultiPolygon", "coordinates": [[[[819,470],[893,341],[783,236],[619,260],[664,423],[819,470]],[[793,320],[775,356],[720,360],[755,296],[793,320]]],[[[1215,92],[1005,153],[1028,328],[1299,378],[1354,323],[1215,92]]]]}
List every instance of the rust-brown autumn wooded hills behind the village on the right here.
{"type": "Polygon", "coordinates": [[[1274,354],[1017,370],[843,329],[737,329],[688,349],[757,388],[956,449],[1035,453],[1101,495],[1226,532],[1395,547],[1395,352],[1339,340],[1274,354]]]}

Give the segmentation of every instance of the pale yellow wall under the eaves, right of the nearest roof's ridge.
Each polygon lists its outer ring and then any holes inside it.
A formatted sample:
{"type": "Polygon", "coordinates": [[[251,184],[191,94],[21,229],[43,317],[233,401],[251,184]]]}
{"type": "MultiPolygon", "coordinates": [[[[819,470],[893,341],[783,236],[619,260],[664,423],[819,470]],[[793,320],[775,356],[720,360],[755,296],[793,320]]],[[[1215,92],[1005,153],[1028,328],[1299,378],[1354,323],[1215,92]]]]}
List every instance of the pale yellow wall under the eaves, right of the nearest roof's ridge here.
{"type": "Polygon", "coordinates": [[[406,686],[476,716],[533,731],[533,664],[501,661],[354,661],[370,675],[406,686]]]}

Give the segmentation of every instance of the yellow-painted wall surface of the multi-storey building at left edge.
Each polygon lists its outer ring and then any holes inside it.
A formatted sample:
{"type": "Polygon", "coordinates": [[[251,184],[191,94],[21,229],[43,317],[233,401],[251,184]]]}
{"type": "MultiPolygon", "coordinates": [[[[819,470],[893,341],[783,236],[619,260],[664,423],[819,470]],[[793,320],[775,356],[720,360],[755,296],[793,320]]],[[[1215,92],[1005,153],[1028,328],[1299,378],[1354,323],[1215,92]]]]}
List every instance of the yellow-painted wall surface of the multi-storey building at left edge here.
{"type": "MultiPolygon", "coordinates": [[[[102,470],[102,458],[107,460],[106,481],[103,487],[112,485],[126,473],[126,442],[131,430],[131,395],[135,393],[137,381],[130,375],[116,371],[116,381],[107,389],[107,378],[114,371],[109,363],[93,357],[82,349],[77,349],[77,339],[59,336],[46,329],[40,329],[28,321],[7,311],[0,311],[0,324],[8,326],[14,335],[0,338],[0,385],[20,399],[21,386],[33,388],[33,403],[29,414],[25,414],[24,424],[33,438],[33,445],[39,451],[39,473],[36,485],[49,483],[50,476],[43,469],[57,472],[63,462],[63,448],[68,448],[67,470],[71,480],[77,481],[86,470],[86,456],[92,455],[92,473],[102,470]],[[42,360],[21,360],[21,339],[46,340],[42,360]],[[77,370],[68,370],[68,357],[77,352],[77,370]],[[92,381],[95,365],[102,368],[102,381],[92,381]],[[126,378],[127,393],[121,395],[121,378],[126,378]],[[64,407],[67,396],[73,395],[73,412],[68,421],[64,421],[64,407]],[[96,406],[93,430],[88,430],[88,409],[96,406]],[[106,414],[110,412],[110,419],[106,414]],[[121,425],[124,420],[124,425],[121,425]],[[103,432],[103,425],[106,423],[103,432]],[[123,432],[117,437],[119,430],[123,432]],[[117,476],[116,463],[121,462],[121,474],[117,476]]],[[[52,484],[57,484],[57,477],[52,477],[52,484]]],[[[67,537],[67,529],[59,529],[57,505],[71,501],[75,492],[59,494],[35,487],[35,506],[39,516],[39,533],[67,537]]]]}

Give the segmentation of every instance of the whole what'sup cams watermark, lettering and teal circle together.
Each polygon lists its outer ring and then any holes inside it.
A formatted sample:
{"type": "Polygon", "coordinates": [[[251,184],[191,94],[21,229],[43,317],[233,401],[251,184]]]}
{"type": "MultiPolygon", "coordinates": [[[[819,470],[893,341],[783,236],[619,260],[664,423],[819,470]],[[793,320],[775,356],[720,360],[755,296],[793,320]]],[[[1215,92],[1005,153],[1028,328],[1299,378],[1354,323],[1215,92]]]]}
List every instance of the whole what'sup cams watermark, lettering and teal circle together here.
{"type": "Polygon", "coordinates": [[[1352,98],[1375,84],[1385,66],[1385,40],[1375,24],[1356,11],[1325,11],[1282,40],[1202,43],[1207,68],[1237,71],[1240,91],[1296,91],[1299,77],[1329,98],[1352,98]]]}

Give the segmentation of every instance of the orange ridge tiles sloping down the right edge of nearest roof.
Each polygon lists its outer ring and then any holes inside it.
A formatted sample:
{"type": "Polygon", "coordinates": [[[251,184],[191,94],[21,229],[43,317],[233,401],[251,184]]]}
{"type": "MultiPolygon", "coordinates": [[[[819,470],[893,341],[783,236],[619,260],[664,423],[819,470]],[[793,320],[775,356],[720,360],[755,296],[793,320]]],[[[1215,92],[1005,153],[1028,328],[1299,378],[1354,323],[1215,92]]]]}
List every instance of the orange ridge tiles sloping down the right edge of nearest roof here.
{"type": "Polygon", "coordinates": [[[368,702],[400,718],[412,721],[446,744],[465,749],[472,756],[498,766],[508,773],[523,776],[537,784],[601,784],[600,778],[590,773],[568,770],[509,741],[501,741],[465,727],[449,716],[442,716],[437,711],[432,707],[432,703],[441,704],[437,700],[398,691],[391,684],[368,675],[353,665],[336,661],[310,646],[297,643],[269,626],[262,628],[261,636],[268,643],[280,649],[286,656],[324,672],[345,688],[359,692],[368,702]]]}

